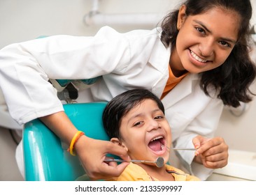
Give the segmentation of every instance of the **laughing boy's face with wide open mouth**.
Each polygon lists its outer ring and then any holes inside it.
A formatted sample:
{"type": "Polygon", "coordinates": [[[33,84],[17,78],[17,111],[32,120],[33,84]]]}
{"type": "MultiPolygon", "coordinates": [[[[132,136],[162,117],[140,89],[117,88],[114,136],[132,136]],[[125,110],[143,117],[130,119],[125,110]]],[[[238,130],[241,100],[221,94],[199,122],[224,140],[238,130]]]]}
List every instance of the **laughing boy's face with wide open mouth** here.
{"type": "Polygon", "coordinates": [[[120,135],[131,159],[168,161],[171,128],[155,101],[144,100],[131,109],[121,120],[120,135]]]}

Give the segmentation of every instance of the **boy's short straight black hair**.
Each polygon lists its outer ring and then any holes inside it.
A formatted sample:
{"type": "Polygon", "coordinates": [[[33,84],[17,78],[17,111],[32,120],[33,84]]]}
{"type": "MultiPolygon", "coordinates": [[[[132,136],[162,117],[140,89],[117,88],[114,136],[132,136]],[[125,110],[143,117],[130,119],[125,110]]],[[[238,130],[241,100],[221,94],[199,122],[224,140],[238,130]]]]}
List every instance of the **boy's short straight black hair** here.
{"type": "Polygon", "coordinates": [[[115,96],[104,109],[103,125],[108,137],[120,138],[119,128],[122,117],[144,100],[153,100],[164,113],[164,105],[152,92],[146,89],[131,89],[115,96]]]}

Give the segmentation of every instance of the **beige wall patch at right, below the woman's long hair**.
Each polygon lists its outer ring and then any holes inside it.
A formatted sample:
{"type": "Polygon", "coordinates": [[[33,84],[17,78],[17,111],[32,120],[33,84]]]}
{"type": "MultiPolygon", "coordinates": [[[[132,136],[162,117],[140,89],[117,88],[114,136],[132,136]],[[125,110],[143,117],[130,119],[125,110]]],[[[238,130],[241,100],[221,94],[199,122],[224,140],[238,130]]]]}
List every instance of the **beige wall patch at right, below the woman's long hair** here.
{"type": "MultiPolygon", "coordinates": [[[[256,92],[256,84],[252,86],[256,92]]],[[[242,108],[224,109],[216,136],[224,137],[227,145],[235,150],[247,150],[256,153],[256,101],[242,108]],[[241,115],[241,116],[240,116],[241,115]]]]}

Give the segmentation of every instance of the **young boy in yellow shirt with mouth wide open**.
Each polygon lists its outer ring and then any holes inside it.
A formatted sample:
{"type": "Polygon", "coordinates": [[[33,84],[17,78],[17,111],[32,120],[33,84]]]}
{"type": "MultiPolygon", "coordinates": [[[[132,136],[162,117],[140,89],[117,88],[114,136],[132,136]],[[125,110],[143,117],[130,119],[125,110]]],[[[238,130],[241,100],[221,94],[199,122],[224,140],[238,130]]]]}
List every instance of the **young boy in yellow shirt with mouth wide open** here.
{"type": "MultiPolygon", "coordinates": [[[[164,106],[145,89],[133,89],[108,102],[103,114],[104,128],[113,143],[124,147],[131,159],[155,162],[164,158],[164,166],[131,162],[118,181],[190,181],[199,178],[166,164],[171,147],[171,127],[164,116],[164,106]]],[[[116,164],[116,162],[108,162],[116,164]]]]}

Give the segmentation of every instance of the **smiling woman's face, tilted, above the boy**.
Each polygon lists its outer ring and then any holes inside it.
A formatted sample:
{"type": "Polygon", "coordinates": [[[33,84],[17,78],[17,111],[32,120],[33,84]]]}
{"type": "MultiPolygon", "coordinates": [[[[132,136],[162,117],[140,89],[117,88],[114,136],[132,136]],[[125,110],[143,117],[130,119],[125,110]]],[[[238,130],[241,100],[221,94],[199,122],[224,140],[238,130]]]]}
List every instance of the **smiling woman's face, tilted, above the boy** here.
{"type": "Polygon", "coordinates": [[[236,44],[240,16],[224,8],[212,8],[200,15],[185,15],[180,8],[176,49],[172,49],[170,65],[173,73],[192,73],[218,68],[236,44]]]}

